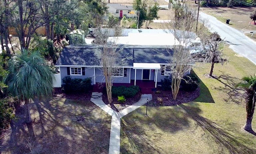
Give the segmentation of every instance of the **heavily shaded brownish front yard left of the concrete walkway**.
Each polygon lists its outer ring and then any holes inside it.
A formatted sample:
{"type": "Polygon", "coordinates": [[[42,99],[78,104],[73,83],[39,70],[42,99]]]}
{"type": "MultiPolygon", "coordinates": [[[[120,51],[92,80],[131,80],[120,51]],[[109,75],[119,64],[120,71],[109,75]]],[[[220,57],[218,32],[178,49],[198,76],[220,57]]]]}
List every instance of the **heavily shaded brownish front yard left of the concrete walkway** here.
{"type": "Polygon", "coordinates": [[[34,100],[30,111],[33,123],[28,126],[22,111],[16,111],[16,121],[1,135],[3,154],[108,153],[111,116],[90,101],[62,95],[34,100]]]}

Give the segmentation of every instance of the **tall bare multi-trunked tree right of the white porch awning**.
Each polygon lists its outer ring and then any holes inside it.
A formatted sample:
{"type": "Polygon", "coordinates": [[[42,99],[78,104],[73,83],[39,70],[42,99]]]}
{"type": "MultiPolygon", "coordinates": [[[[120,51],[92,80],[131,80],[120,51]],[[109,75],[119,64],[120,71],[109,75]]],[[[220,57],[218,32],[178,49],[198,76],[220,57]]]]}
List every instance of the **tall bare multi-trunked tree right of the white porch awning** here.
{"type": "MultiPolygon", "coordinates": [[[[182,4],[182,14],[179,18],[174,17],[176,20],[170,23],[170,30],[174,34],[175,40],[179,44],[173,47],[173,53],[170,58],[170,70],[172,71],[172,96],[175,100],[177,98],[180,82],[184,76],[190,71],[192,63],[195,62],[194,57],[191,55],[190,50],[193,43],[198,42],[198,35],[195,31],[196,26],[196,11],[188,10],[186,4],[182,4]]],[[[199,32],[204,32],[198,30],[199,32]]],[[[175,41],[176,42],[176,41],[175,41]]]]}

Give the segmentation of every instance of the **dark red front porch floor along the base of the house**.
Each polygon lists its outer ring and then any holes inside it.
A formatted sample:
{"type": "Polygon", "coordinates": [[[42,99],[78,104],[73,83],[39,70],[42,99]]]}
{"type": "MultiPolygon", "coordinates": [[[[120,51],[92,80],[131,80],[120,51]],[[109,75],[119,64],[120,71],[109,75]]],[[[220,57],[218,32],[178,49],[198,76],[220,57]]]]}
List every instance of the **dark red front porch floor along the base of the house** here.
{"type": "MultiPolygon", "coordinates": [[[[113,86],[126,86],[129,87],[134,85],[134,80],[131,80],[130,83],[113,83],[113,86]]],[[[156,91],[154,80],[136,80],[136,85],[140,87],[142,94],[152,94],[156,91]]],[[[105,83],[96,83],[93,85],[94,92],[102,92],[103,87],[105,87],[105,83]]]]}

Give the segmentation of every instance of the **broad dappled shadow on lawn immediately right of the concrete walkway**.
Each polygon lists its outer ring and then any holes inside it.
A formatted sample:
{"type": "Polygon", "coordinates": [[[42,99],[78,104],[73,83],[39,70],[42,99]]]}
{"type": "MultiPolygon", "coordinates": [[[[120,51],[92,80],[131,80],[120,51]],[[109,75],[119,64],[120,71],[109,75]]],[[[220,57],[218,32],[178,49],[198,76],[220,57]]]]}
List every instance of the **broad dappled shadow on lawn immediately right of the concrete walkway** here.
{"type": "Polygon", "coordinates": [[[159,107],[148,107],[148,116],[145,115],[144,108],[139,108],[136,110],[136,114],[122,118],[121,136],[123,136],[122,138],[126,136],[131,147],[121,144],[120,152],[146,154],[163,153],[164,150],[158,150],[162,147],[158,147],[158,145],[152,141],[152,137],[157,138],[157,140],[162,140],[162,134],[156,133],[156,129],[172,134],[190,126],[187,114],[184,113],[180,107],[173,107],[172,109],[161,108],[161,113],[156,111],[154,111],[154,113],[151,112],[151,109],[156,110],[156,108],[159,107]]]}

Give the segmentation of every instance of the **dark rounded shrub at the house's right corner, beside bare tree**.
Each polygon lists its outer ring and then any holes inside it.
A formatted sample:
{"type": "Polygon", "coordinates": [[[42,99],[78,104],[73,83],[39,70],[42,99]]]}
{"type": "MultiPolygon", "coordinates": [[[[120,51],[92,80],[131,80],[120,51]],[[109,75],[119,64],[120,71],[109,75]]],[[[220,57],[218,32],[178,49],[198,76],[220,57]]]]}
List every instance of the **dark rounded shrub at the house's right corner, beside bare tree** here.
{"type": "Polygon", "coordinates": [[[194,74],[189,74],[183,77],[180,85],[184,91],[195,91],[198,87],[199,79],[194,74]]]}

